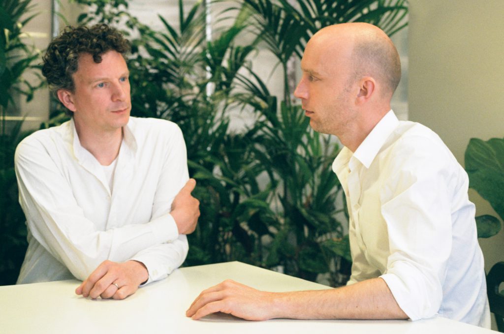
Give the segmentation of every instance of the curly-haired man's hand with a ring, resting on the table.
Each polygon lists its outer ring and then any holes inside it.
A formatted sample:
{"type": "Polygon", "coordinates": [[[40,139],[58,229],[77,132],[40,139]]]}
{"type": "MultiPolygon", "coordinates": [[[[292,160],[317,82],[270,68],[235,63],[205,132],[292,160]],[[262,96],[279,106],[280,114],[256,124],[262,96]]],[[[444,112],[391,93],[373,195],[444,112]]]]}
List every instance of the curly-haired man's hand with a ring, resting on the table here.
{"type": "Polygon", "coordinates": [[[75,293],[92,299],[124,299],[137,292],[148,279],[149,273],[142,262],[105,260],[75,289],[75,293]]]}

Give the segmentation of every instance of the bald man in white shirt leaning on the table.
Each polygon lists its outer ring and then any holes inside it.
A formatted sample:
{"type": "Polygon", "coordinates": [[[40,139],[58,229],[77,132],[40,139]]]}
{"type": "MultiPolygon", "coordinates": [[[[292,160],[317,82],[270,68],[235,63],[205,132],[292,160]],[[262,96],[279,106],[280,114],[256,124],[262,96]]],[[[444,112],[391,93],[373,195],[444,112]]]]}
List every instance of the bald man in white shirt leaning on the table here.
{"type": "Polygon", "coordinates": [[[310,126],[337,136],[333,163],[350,215],[352,275],[345,287],[263,292],[225,281],[186,315],[249,320],[422,319],[489,327],[483,256],[468,177],[435,133],[399,121],[390,101],[401,77],[396,48],[365,23],[326,27],[306,44],[294,92],[310,126]]]}

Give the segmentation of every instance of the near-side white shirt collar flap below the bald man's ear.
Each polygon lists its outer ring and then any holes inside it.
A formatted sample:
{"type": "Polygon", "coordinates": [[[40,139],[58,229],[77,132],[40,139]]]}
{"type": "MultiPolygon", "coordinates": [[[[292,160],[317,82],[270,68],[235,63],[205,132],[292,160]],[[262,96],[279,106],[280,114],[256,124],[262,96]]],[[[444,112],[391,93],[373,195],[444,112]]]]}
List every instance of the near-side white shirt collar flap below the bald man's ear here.
{"type": "Polygon", "coordinates": [[[359,145],[353,157],[359,160],[362,165],[369,168],[374,158],[380,152],[380,149],[385,144],[387,138],[399,124],[399,119],[394,114],[394,111],[389,112],[374,126],[369,132],[369,135],[359,145]]]}

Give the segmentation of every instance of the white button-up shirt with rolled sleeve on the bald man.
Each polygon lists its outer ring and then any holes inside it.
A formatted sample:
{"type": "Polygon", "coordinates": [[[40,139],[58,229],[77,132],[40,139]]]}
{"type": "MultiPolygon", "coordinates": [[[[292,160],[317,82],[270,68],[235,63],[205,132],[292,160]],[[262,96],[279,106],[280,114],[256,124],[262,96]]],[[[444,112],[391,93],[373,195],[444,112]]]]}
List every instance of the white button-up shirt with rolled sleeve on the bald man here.
{"type": "Polygon", "coordinates": [[[412,320],[439,314],[489,328],[469,181],[442,140],[391,110],[333,170],[350,215],[348,284],[381,277],[412,320]]]}

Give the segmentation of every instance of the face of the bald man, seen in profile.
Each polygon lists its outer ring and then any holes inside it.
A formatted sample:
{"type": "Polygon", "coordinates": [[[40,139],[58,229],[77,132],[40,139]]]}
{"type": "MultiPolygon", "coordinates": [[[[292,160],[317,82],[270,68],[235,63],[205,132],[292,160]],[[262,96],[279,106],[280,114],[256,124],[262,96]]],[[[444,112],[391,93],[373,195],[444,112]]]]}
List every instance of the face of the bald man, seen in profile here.
{"type": "Polygon", "coordinates": [[[307,43],[301,60],[303,75],[294,96],[301,99],[314,130],[340,136],[355,120],[352,102],[357,90],[349,60],[351,49],[344,43],[331,46],[331,42],[317,36],[307,43]]]}

